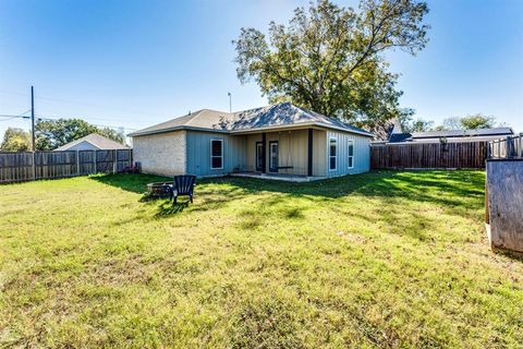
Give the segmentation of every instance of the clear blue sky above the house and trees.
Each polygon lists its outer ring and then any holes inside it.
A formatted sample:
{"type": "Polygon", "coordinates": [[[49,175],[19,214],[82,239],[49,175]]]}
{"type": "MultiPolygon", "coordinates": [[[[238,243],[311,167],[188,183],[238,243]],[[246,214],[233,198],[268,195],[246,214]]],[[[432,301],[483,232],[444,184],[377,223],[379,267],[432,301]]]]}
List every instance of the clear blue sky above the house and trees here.
{"type": "MultiPolygon", "coordinates": [[[[356,1],[336,1],[357,5],[356,1]]],[[[127,131],[188,110],[266,105],[233,63],[242,26],[285,23],[308,1],[0,0],[0,115],[29,109],[127,131]]],[[[523,1],[428,1],[430,41],[388,55],[403,107],[436,123],[484,112],[523,131],[523,1]]],[[[7,127],[27,120],[0,118],[7,127]]]]}

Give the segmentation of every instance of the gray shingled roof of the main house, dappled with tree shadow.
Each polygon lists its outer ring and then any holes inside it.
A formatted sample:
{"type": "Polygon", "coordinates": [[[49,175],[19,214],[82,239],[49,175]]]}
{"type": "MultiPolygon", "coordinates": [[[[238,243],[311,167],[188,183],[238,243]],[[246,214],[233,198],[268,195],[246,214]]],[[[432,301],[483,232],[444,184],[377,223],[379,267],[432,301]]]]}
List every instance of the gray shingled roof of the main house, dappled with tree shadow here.
{"type": "Polygon", "coordinates": [[[270,130],[282,127],[317,125],[373,136],[372,133],[326,117],[315,111],[281,103],[233,113],[202,109],[156,125],[133,132],[129,136],[162,133],[175,130],[204,130],[214,132],[241,133],[270,130]]]}

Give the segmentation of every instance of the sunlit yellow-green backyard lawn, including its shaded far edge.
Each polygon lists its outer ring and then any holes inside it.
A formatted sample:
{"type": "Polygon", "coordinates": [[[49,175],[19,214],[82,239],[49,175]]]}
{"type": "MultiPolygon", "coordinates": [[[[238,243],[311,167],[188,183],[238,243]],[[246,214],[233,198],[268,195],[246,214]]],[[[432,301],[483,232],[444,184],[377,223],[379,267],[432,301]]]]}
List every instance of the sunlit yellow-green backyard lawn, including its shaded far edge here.
{"type": "Polygon", "coordinates": [[[523,263],[494,254],[484,173],[313,183],[151,176],[0,186],[0,346],[516,348],[523,263]]]}

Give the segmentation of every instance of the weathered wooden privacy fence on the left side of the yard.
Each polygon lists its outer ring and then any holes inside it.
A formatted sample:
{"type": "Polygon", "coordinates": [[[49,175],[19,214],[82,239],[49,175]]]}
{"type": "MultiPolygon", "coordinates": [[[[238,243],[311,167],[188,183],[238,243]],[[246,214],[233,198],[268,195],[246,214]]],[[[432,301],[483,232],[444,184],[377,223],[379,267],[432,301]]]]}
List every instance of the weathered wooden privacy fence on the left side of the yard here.
{"type": "Polygon", "coordinates": [[[132,149],[0,153],[0,183],[115,173],[132,160],[132,149]]]}

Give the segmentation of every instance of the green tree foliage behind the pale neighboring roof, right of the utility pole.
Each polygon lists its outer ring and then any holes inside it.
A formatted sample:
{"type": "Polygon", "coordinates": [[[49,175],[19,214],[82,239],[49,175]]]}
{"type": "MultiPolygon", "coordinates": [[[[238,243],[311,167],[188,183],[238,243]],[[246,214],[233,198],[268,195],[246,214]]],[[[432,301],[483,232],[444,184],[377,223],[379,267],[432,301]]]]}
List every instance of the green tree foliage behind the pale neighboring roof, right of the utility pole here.
{"type": "Polygon", "coordinates": [[[81,119],[58,119],[38,121],[36,123],[36,148],[39,151],[52,151],[90,133],[98,133],[124,144],[125,136],[112,129],[100,129],[81,119]]]}

